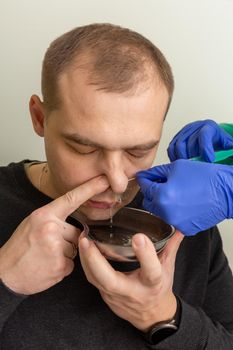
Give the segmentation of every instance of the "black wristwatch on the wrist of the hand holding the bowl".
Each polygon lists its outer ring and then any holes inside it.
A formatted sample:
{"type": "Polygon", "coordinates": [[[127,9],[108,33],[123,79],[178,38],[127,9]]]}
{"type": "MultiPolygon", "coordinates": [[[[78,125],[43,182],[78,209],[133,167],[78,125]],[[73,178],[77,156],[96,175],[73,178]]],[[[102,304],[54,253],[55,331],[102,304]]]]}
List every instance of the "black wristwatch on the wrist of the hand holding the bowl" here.
{"type": "Polygon", "coordinates": [[[177,309],[173,319],[158,322],[154,324],[146,333],[144,333],[144,337],[149,344],[158,344],[161,340],[166,339],[178,330],[181,317],[181,305],[180,300],[178,298],[176,299],[177,309]]]}

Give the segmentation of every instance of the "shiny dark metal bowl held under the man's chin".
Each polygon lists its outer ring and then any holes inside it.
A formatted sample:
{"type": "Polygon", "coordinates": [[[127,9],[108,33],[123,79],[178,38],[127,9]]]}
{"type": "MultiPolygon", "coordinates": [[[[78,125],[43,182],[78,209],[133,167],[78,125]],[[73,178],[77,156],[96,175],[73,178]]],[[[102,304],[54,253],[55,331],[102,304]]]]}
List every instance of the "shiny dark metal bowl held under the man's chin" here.
{"type": "Polygon", "coordinates": [[[93,240],[101,253],[114,261],[136,261],[132,236],[144,233],[153,242],[157,253],[174,234],[173,226],[141,209],[124,207],[111,220],[88,221],[87,237],[93,240]]]}

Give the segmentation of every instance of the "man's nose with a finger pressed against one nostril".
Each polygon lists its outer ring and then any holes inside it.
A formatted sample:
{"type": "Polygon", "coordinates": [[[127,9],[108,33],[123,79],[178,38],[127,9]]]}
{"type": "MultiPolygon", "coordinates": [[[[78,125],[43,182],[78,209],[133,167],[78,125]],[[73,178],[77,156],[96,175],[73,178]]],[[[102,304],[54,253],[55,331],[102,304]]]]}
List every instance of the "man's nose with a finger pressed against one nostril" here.
{"type": "Polygon", "coordinates": [[[102,172],[107,176],[110,187],[114,193],[125,192],[128,185],[124,160],[117,151],[105,154],[102,162],[102,172]]]}

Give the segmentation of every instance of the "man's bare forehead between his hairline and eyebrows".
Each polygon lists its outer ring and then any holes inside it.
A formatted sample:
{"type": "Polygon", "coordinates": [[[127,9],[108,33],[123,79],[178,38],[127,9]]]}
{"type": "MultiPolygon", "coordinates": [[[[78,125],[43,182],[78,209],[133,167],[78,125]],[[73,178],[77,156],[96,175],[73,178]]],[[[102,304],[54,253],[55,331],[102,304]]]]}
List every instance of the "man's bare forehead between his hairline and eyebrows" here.
{"type": "Polygon", "coordinates": [[[106,139],[109,136],[107,142],[115,143],[119,136],[128,138],[129,144],[135,143],[139,134],[141,140],[143,136],[145,140],[159,137],[168,104],[167,90],[156,78],[134,91],[110,93],[88,84],[80,70],[61,75],[59,94],[64,128],[73,132],[79,127],[84,137],[92,135],[99,141],[104,135],[106,139]]]}

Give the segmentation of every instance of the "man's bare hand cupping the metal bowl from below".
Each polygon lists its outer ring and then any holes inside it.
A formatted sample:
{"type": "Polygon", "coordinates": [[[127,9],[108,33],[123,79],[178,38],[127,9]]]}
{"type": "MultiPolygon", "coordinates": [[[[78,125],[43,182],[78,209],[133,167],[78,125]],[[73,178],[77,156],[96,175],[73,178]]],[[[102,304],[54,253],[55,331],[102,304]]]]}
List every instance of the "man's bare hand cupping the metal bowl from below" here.
{"type": "Polygon", "coordinates": [[[84,236],[80,237],[79,253],[88,281],[99,289],[109,308],[146,331],[154,323],[171,319],[176,312],[172,285],[182,239],[183,235],[177,231],[158,256],[151,240],[136,234],[132,244],[141,267],[127,273],[115,271],[95,244],[84,236]]]}

